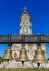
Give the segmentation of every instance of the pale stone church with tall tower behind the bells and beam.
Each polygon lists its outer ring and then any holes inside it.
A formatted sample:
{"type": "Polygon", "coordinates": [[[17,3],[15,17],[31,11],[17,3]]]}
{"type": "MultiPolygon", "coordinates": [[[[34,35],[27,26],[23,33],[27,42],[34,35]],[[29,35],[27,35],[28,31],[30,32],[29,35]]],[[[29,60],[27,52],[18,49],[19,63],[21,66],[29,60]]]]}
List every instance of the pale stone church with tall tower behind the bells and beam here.
{"type": "MultiPolygon", "coordinates": [[[[33,35],[32,34],[32,20],[29,13],[24,9],[23,13],[20,16],[20,34],[19,35],[33,35]]],[[[32,43],[32,44],[12,44],[11,48],[8,46],[8,49],[4,52],[4,58],[9,59],[8,67],[9,68],[16,68],[16,67],[22,67],[21,61],[17,61],[17,58],[20,57],[20,50],[22,47],[25,48],[27,58],[29,61],[34,59],[35,50],[37,50],[37,44],[32,43]],[[11,58],[10,57],[10,50],[11,50],[11,58]]],[[[41,44],[41,48],[45,51],[45,57],[46,57],[46,43],[41,44]]],[[[25,62],[25,67],[30,67],[30,63],[25,62]]],[[[5,63],[7,67],[7,63],[5,63]]]]}

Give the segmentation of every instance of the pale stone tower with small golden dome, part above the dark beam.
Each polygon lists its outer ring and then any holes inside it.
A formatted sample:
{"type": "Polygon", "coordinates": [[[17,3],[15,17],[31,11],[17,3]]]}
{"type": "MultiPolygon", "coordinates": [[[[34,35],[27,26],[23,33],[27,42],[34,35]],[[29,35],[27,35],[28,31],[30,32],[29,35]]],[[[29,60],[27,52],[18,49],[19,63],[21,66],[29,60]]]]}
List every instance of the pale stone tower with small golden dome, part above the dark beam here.
{"type": "Polygon", "coordinates": [[[32,35],[30,16],[26,8],[20,17],[20,35],[32,35]]]}

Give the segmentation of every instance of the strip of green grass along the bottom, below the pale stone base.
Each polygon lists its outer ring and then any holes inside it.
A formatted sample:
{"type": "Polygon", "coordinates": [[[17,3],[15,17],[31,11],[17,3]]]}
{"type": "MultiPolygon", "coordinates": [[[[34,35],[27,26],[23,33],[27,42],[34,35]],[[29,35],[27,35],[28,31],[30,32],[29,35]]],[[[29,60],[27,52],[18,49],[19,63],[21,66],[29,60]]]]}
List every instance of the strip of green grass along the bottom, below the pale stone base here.
{"type": "MultiPolygon", "coordinates": [[[[0,68],[0,71],[35,71],[33,68],[0,68]]],[[[37,71],[44,71],[41,68],[37,71]]],[[[46,68],[45,71],[49,71],[49,68],[46,68]]]]}

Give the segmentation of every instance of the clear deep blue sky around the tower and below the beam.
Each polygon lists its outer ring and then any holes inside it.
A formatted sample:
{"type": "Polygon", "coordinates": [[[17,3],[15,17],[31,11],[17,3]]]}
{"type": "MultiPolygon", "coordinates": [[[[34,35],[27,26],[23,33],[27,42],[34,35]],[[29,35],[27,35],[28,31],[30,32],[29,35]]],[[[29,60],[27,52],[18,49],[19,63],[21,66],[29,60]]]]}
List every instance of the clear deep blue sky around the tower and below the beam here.
{"type": "MultiPolygon", "coordinates": [[[[49,0],[0,0],[0,35],[19,34],[24,7],[27,7],[32,19],[33,34],[49,34],[49,0]]],[[[0,56],[5,48],[7,45],[0,45],[0,56]]],[[[49,57],[49,44],[46,50],[49,57]]]]}

